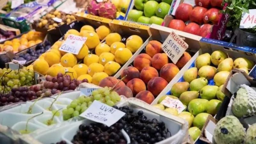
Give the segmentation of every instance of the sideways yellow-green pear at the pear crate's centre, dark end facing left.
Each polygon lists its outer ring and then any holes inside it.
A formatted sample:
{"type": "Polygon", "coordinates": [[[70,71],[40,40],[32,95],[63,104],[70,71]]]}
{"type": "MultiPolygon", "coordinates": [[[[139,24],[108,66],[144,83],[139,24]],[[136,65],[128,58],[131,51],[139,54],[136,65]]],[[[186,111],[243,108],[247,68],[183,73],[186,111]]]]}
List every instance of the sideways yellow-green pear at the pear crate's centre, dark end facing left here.
{"type": "Polygon", "coordinates": [[[200,96],[206,100],[215,99],[218,89],[219,87],[216,85],[206,85],[200,90],[200,96]]]}

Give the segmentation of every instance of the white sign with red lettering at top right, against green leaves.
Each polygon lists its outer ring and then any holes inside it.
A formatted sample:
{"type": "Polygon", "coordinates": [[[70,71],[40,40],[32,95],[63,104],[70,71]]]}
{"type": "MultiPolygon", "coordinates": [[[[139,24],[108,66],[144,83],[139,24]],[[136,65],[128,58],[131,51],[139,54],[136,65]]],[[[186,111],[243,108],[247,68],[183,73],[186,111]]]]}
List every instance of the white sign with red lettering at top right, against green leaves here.
{"type": "Polygon", "coordinates": [[[256,26],[256,9],[243,12],[239,28],[253,28],[256,26]]]}

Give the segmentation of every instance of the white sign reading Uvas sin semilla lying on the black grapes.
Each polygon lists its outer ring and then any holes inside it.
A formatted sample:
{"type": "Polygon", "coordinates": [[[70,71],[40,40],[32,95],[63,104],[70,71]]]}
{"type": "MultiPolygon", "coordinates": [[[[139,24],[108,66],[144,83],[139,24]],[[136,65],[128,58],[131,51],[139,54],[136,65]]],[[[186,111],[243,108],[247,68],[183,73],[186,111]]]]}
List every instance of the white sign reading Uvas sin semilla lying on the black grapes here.
{"type": "Polygon", "coordinates": [[[111,126],[125,115],[124,112],[110,107],[104,103],[94,100],[89,108],[87,108],[80,116],[111,126]]]}

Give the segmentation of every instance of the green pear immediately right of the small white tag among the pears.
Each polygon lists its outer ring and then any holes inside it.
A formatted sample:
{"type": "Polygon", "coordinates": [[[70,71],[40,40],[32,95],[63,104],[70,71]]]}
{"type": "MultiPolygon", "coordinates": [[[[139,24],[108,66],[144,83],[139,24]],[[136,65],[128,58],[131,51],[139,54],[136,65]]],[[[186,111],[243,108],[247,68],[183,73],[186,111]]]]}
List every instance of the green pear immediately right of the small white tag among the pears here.
{"type": "Polygon", "coordinates": [[[188,104],[188,111],[194,116],[203,113],[206,110],[206,104],[208,100],[205,99],[194,99],[191,100],[188,104]]]}

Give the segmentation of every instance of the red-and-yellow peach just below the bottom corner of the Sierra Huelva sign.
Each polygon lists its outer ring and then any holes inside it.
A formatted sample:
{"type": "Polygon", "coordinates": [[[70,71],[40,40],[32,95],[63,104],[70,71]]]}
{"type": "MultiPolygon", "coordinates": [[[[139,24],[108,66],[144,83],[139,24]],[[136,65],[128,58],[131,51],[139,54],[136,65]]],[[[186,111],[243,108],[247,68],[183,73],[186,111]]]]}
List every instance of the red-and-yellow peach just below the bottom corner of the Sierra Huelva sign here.
{"type": "Polygon", "coordinates": [[[173,63],[168,63],[160,70],[160,76],[164,78],[168,83],[178,74],[180,69],[173,63]]]}

